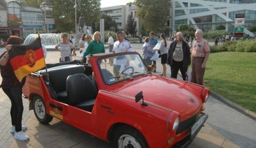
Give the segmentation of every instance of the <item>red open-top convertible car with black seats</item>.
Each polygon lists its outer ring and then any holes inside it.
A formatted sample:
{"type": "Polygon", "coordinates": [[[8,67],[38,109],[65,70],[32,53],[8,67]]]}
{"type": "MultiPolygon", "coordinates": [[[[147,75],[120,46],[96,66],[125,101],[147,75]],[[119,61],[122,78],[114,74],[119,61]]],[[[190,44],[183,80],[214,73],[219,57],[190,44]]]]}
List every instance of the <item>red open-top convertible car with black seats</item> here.
{"type": "Polygon", "coordinates": [[[153,75],[137,52],[47,67],[23,87],[38,121],[55,117],[116,148],[187,147],[208,118],[209,89],[153,75]]]}

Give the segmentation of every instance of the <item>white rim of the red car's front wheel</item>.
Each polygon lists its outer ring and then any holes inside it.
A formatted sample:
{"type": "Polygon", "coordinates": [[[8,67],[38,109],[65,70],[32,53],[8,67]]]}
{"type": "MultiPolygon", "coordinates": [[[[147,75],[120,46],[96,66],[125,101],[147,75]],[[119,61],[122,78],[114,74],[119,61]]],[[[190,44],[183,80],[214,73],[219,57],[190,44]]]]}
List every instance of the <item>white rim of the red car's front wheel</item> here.
{"type": "Polygon", "coordinates": [[[140,143],[131,135],[122,135],[118,139],[119,148],[141,148],[140,143]]]}

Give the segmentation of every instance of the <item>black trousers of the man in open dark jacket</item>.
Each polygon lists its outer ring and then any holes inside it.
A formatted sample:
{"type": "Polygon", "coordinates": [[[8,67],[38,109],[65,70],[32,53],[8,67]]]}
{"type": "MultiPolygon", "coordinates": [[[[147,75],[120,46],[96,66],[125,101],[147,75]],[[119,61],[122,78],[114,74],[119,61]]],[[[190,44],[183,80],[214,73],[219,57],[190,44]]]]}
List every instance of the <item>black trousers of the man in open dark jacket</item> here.
{"type": "Polygon", "coordinates": [[[174,60],[172,61],[171,78],[177,79],[179,69],[180,69],[180,72],[181,72],[181,75],[182,75],[182,79],[184,81],[186,81],[186,77],[187,77],[186,72],[188,70],[188,67],[183,67],[183,61],[181,61],[181,62],[177,62],[177,61],[174,61],[174,60]]]}

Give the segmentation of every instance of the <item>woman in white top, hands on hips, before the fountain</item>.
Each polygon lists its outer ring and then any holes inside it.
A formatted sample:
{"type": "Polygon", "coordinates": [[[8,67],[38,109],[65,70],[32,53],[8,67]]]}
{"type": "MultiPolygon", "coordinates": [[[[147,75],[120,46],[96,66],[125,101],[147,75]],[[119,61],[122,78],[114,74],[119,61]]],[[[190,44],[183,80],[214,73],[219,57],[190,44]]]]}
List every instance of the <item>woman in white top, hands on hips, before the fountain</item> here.
{"type": "Polygon", "coordinates": [[[56,46],[55,49],[60,52],[60,63],[61,62],[68,62],[72,61],[72,56],[75,55],[76,53],[76,47],[68,42],[68,34],[67,33],[62,33],[61,34],[62,42],[59,42],[56,46]],[[73,54],[70,54],[70,48],[73,49],[73,54]]]}

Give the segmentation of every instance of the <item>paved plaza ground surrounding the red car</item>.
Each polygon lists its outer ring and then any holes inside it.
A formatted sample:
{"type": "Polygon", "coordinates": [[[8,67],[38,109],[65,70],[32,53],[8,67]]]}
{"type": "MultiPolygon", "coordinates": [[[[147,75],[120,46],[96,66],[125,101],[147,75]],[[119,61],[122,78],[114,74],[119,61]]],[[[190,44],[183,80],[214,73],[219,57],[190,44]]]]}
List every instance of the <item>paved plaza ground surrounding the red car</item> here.
{"type": "MultiPolygon", "coordinates": [[[[170,42],[168,42],[169,44],[170,42]]],[[[142,45],[132,44],[133,50],[141,53],[142,45]]],[[[0,53],[4,50],[4,48],[0,48],[0,53]]],[[[46,63],[57,63],[59,55],[58,51],[48,51],[46,63]]],[[[79,59],[79,57],[76,56],[73,59],[79,59]]],[[[160,61],[157,61],[155,74],[161,74],[160,61]]],[[[170,77],[170,66],[168,65],[167,77],[170,77]]],[[[181,78],[179,77],[179,79],[181,78]]],[[[56,118],[53,118],[48,125],[40,124],[33,110],[28,110],[27,99],[23,99],[23,105],[22,124],[28,127],[24,132],[30,137],[26,141],[15,140],[14,134],[9,132],[11,102],[0,89],[0,148],[110,148],[105,141],[56,118]]],[[[256,121],[212,96],[204,106],[209,118],[189,148],[256,148],[256,121]]]]}

